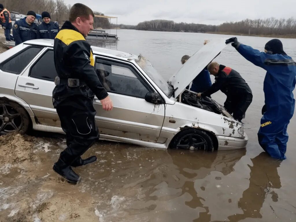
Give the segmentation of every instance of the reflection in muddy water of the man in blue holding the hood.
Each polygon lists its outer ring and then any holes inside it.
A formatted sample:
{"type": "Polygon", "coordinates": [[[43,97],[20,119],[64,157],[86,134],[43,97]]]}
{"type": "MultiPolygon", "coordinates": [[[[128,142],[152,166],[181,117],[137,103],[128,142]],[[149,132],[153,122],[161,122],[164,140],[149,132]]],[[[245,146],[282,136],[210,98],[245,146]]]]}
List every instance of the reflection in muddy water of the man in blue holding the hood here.
{"type": "Polygon", "coordinates": [[[238,207],[243,210],[243,213],[229,216],[229,221],[262,218],[260,209],[269,194],[274,202],[278,201],[278,195],[273,189],[281,188],[277,171],[281,161],[272,159],[265,152],[251,160],[253,166],[248,165],[251,169],[250,186],[243,192],[238,202],[238,207]]]}

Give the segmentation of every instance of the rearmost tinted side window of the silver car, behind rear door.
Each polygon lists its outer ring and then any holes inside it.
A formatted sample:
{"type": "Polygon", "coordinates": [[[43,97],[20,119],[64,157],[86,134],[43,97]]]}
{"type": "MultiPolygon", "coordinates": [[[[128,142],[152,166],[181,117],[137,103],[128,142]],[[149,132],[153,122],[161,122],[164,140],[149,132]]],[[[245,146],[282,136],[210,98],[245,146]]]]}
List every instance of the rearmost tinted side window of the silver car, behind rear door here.
{"type": "Polygon", "coordinates": [[[2,62],[0,68],[5,72],[20,74],[40,50],[38,47],[29,47],[2,62]]]}

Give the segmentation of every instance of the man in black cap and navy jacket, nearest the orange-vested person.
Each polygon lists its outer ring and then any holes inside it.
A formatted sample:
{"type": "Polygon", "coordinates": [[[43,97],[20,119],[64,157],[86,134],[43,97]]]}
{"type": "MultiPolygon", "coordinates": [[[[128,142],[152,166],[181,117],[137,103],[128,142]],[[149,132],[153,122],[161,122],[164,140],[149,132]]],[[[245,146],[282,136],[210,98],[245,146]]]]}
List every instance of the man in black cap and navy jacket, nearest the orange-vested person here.
{"type": "Polygon", "coordinates": [[[28,40],[36,39],[37,25],[34,23],[35,19],[36,13],[29,11],[27,13],[27,17],[15,22],[12,29],[15,45],[21,44],[22,42],[28,40]]]}

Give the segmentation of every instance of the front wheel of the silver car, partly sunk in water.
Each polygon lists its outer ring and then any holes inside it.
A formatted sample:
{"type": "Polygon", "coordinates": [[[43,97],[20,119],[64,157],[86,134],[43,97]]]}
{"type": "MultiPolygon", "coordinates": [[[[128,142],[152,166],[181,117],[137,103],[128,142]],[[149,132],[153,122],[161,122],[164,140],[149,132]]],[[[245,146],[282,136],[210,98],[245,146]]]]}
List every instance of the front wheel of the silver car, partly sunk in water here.
{"type": "Polygon", "coordinates": [[[210,135],[198,129],[184,129],[180,131],[170,142],[170,149],[203,149],[213,152],[214,142],[210,135]]]}

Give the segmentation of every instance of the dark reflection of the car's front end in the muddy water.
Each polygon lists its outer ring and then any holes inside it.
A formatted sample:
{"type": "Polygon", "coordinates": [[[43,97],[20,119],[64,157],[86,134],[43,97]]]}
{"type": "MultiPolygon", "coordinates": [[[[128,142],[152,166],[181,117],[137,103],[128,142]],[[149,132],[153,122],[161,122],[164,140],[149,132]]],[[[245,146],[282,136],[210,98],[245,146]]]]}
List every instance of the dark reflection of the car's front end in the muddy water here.
{"type": "MultiPolygon", "coordinates": [[[[218,171],[224,176],[234,171],[233,167],[245,155],[245,149],[232,151],[219,151],[213,153],[199,152],[190,153],[184,152],[180,155],[178,150],[169,150],[169,154],[173,159],[173,163],[178,167],[181,175],[185,176],[184,184],[182,185],[182,194],[190,194],[192,200],[185,201],[185,205],[193,209],[198,207],[204,208],[199,210],[199,216],[193,221],[210,221],[209,207],[204,206],[202,202],[205,200],[199,197],[197,189],[194,187],[194,182],[197,179],[203,179],[211,173],[211,171],[218,171]]],[[[216,178],[221,179],[221,178],[216,178]]],[[[205,187],[200,187],[202,191],[205,187]]]]}

